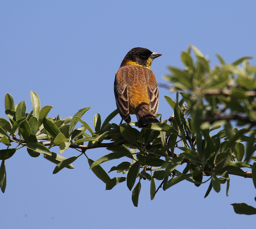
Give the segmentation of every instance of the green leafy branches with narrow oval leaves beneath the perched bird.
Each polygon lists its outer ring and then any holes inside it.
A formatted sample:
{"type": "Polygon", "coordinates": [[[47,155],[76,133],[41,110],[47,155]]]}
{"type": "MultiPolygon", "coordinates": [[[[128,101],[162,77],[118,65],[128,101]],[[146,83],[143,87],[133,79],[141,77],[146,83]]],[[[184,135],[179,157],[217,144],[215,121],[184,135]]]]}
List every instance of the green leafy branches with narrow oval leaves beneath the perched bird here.
{"type": "MultiPolygon", "coordinates": [[[[2,192],[6,187],[5,160],[23,147],[30,156],[43,154],[45,159],[57,164],[53,173],[65,167],[73,169],[71,163],[85,155],[90,169],[106,183],[107,190],[118,183],[127,183],[134,206],[138,206],[142,179],[150,182],[151,200],[159,188],[166,190],[183,180],[197,187],[208,182],[204,197],[212,188],[219,192],[226,183],[228,196],[230,174],[251,178],[256,188],[256,162],[249,164],[251,159],[256,161],[253,155],[256,149],[256,67],[249,64],[248,56],[231,64],[225,63],[220,55],[217,58],[220,65],[210,68],[209,60],[196,47],[190,45],[182,52],[185,69],[169,67],[170,75],[164,76],[177,91],[176,101],[165,96],[173,116],[163,121],[158,115],[159,123],[140,130],[135,128],[136,122],[120,126],[110,123],[118,114],[117,110],[102,124],[97,113],[95,131],[81,119],[90,107],[63,120],[59,115],[47,117],[52,106],[41,108],[39,97],[33,91],[30,94],[33,111],[26,113],[25,101],[15,105],[13,97],[7,94],[5,113],[8,120],[0,118],[0,141],[5,146],[0,150],[2,192]],[[239,66],[241,63],[242,67],[239,66]],[[239,129],[232,128],[234,121],[239,129]],[[75,128],[78,122],[82,126],[75,128]],[[87,145],[84,142],[88,142],[87,145]],[[15,143],[16,147],[13,146],[15,143]],[[65,158],[52,152],[54,146],[58,146],[60,153],[68,148],[77,149],[79,153],[65,158]],[[93,161],[86,151],[98,147],[105,147],[110,153],[93,161]],[[117,158],[122,158],[123,162],[109,172],[117,171],[120,176],[111,179],[100,164],[117,158]],[[155,179],[161,181],[159,187],[156,187],[155,179]]],[[[245,203],[232,205],[238,214],[256,214],[256,209],[245,203]]]]}

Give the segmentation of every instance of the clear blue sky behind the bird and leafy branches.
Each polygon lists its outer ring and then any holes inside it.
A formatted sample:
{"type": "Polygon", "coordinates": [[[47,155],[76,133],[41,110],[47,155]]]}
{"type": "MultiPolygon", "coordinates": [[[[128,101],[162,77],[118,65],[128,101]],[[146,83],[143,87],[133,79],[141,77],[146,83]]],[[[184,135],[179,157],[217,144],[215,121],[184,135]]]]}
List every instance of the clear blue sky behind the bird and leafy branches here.
{"type": "MultiPolygon", "coordinates": [[[[92,106],[83,120],[93,125],[116,109],[114,75],[126,53],[145,47],[163,55],[152,70],[158,83],[167,66],[182,67],[180,52],[189,44],[226,62],[255,56],[256,3],[254,1],[1,1],[0,2],[0,116],[4,97],[15,104],[25,100],[32,110],[30,91],[49,113],[61,118],[92,106]]],[[[252,64],[255,59],[251,60],[252,64]]],[[[159,113],[173,111],[164,99],[175,94],[160,89],[159,113]]],[[[132,120],[135,121],[134,117],[132,120]]],[[[117,116],[114,122],[119,123],[117,116]]],[[[2,146],[1,146],[2,147],[2,146]]],[[[55,151],[58,153],[58,149],[55,151]]],[[[88,152],[92,159],[105,149],[88,152]]],[[[68,149],[63,156],[76,155],[68,149]]],[[[118,161],[103,164],[106,170],[118,161]]],[[[7,187],[0,193],[1,228],[255,228],[255,215],[237,215],[231,203],[256,206],[251,179],[231,175],[229,197],[225,186],[204,199],[208,184],[196,188],[181,182],[158,191],[150,200],[149,182],[142,181],[139,206],[131,201],[125,183],[111,191],[99,180],[86,158],[75,169],[52,174],[54,164],[20,150],[6,160],[7,187]]],[[[110,173],[111,178],[118,176],[110,173]]]]}

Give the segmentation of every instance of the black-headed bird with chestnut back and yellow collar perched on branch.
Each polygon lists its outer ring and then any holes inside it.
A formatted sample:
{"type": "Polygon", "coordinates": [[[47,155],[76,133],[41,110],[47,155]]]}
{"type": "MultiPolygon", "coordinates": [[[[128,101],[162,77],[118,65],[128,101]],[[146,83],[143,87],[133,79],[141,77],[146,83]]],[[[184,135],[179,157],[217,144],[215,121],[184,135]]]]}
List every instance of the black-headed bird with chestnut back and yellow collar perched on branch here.
{"type": "Polygon", "coordinates": [[[153,59],[161,55],[146,48],[133,48],[124,57],[115,75],[114,94],[119,114],[127,123],[131,122],[130,114],[135,114],[139,128],[159,122],[155,117],[158,111],[158,84],[150,68],[153,59]]]}

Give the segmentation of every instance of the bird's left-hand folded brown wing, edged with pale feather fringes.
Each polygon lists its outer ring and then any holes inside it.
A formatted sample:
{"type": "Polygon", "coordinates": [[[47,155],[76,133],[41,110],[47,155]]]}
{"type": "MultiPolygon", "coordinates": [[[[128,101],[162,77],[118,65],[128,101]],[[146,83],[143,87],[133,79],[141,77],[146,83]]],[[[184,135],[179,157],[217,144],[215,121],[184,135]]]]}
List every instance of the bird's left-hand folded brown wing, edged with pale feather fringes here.
{"type": "Polygon", "coordinates": [[[116,73],[115,83],[114,83],[114,92],[115,92],[115,98],[117,103],[117,109],[121,117],[126,122],[130,122],[131,118],[129,115],[129,98],[128,98],[128,91],[127,91],[127,84],[123,80],[120,70],[118,70],[116,73]]]}

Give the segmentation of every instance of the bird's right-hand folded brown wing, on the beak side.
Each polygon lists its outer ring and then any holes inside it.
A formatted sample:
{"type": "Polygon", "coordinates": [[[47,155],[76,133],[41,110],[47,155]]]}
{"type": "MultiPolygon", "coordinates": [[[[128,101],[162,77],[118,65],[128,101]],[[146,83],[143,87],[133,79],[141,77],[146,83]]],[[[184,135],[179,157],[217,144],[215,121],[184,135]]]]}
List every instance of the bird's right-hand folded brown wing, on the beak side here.
{"type": "Polygon", "coordinates": [[[151,71],[150,79],[148,82],[148,98],[149,108],[150,110],[154,110],[152,114],[156,115],[158,111],[159,92],[157,80],[153,71],[151,71]]]}

